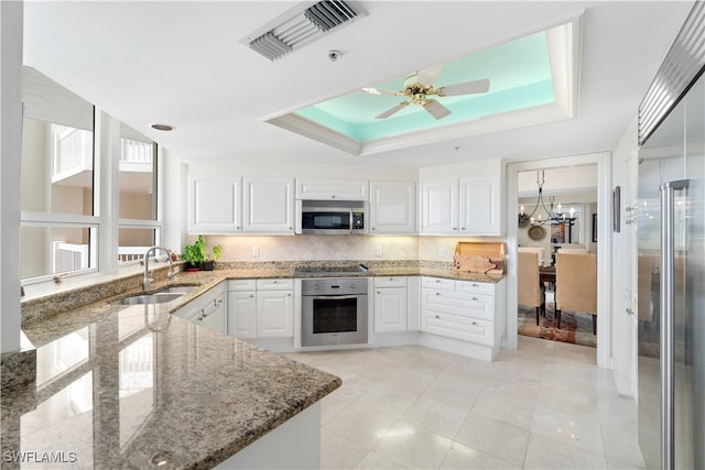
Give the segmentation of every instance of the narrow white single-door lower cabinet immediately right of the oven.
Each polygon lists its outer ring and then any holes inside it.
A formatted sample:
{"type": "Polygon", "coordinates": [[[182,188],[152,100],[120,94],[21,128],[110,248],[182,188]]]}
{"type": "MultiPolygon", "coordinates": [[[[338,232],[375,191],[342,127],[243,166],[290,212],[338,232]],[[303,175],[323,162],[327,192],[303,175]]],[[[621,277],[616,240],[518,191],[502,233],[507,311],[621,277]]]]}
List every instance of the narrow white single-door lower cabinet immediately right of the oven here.
{"type": "Polygon", "coordinates": [[[375,277],[375,332],[406,331],[406,277],[375,277]]]}

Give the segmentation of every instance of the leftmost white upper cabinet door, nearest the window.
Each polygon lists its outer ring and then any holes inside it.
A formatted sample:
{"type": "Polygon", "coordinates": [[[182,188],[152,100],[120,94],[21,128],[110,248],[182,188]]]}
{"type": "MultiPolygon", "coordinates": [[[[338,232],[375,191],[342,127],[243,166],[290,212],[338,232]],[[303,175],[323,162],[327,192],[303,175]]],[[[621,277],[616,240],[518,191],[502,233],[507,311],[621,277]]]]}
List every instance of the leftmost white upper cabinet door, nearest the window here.
{"type": "Polygon", "coordinates": [[[239,176],[189,178],[188,231],[232,233],[241,230],[241,178],[239,176]]]}

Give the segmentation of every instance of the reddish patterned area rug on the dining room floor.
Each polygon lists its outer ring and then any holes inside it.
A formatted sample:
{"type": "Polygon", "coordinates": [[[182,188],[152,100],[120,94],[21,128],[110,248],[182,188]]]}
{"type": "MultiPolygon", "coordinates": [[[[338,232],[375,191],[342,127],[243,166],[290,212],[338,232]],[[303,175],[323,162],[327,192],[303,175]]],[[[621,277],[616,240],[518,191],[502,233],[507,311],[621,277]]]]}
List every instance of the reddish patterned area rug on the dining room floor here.
{"type": "Polygon", "coordinates": [[[546,303],[546,316],[540,317],[539,326],[536,326],[536,311],[533,307],[520,306],[518,316],[519,335],[597,347],[597,336],[593,335],[593,316],[589,314],[563,311],[561,329],[555,318],[553,303],[546,303]]]}

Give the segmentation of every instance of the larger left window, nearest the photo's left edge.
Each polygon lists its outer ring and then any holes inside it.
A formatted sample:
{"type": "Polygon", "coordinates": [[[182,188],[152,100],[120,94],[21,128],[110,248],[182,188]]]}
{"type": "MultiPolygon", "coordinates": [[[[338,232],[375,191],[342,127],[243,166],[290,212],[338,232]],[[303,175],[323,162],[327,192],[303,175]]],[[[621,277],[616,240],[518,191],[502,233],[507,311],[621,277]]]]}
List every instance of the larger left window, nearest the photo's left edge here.
{"type": "Polygon", "coordinates": [[[94,107],[30,67],[22,100],[21,276],[95,270],[94,107]]]}

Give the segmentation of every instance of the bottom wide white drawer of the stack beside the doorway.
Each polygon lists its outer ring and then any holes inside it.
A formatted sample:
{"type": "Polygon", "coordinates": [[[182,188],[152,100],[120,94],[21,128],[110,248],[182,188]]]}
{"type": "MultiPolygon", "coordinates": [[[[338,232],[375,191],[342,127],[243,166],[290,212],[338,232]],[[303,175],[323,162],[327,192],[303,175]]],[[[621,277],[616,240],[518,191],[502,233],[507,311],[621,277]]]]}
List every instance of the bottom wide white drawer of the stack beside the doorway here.
{"type": "Polygon", "coordinates": [[[421,315],[421,330],[478,345],[495,345],[494,321],[452,314],[423,313],[421,315]]]}

